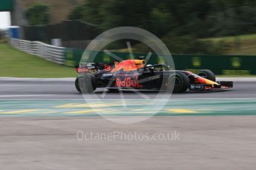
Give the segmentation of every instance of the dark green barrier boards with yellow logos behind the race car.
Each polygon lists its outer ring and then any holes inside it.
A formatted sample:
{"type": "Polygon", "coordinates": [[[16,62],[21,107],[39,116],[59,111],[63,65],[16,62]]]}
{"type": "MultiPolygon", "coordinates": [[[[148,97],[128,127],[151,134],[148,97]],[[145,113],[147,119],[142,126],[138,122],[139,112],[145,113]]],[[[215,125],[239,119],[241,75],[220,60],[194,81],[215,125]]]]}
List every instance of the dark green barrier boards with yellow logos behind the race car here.
{"type": "MultiPolygon", "coordinates": [[[[79,64],[84,50],[69,49],[65,51],[65,65],[79,64]]],[[[129,58],[128,52],[113,52],[120,58],[129,58]]],[[[145,53],[134,53],[134,58],[146,56],[145,53]]],[[[256,75],[256,55],[172,55],[175,69],[197,72],[211,69],[216,75],[256,75]]],[[[86,56],[85,56],[86,58],[86,56]]],[[[105,52],[98,52],[94,62],[113,63],[114,58],[105,52]]],[[[152,54],[148,64],[163,63],[163,56],[152,54]]]]}

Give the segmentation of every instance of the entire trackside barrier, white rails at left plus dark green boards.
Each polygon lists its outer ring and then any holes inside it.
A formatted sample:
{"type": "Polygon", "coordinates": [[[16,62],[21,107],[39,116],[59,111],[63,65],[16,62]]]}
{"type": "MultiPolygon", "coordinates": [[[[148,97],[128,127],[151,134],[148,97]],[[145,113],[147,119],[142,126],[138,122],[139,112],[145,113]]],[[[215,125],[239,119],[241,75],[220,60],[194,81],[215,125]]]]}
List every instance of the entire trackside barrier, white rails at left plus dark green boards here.
{"type": "MultiPolygon", "coordinates": [[[[24,52],[37,55],[57,64],[73,67],[79,64],[84,50],[65,47],[55,47],[39,41],[24,41],[10,39],[10,44],[24,52]]],[[[128,52],[113,52],[119,58],[127,59],[128,52]]],[[[134,58],[146,56],[145,53],[134,53],[134,58]]],[[[85,56],[85,58],[88,56],[85,56]]],[[[200,69],[211,69],[216,75],[256,75],[256,55],[172,55],[175,69],[191,70],[197,72],[200,69]]],[[[96,52],[94,62],[113,63],[105,52],[96,52]]],[[[163,62],[163,55],[152,54],[148,64],[159,64],[163,62]]]]}

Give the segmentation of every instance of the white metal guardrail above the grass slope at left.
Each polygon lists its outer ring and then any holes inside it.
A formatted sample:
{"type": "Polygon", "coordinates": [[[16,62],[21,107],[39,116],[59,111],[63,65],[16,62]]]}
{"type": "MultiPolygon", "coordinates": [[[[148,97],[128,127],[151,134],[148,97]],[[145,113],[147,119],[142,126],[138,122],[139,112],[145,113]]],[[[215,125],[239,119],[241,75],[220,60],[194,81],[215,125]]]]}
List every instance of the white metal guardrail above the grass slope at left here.
{"type": "Polygon", "coordinates": [[[16,49],[31,55],[37,55],[47,61],[65,64],[65,47],[56,47],[40,41],[26,41],[16,38],[11,38],[10,44],[16,49]]]}

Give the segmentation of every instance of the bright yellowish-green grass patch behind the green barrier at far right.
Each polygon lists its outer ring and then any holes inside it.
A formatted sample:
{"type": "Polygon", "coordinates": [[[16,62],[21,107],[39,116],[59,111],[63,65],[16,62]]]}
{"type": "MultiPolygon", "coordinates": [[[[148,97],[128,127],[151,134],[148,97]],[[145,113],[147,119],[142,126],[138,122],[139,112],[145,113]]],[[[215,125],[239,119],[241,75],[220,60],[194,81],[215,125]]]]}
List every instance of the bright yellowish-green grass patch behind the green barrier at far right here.
{"type": "Polygon", "coordinates": [[[256,34],[204,38],[203,40],[215,43],[225,42],[228,45],[226,55],[256,55],[256,34]]]}

